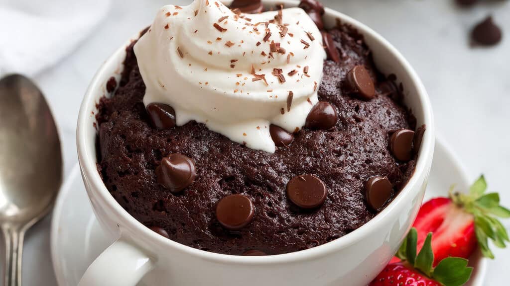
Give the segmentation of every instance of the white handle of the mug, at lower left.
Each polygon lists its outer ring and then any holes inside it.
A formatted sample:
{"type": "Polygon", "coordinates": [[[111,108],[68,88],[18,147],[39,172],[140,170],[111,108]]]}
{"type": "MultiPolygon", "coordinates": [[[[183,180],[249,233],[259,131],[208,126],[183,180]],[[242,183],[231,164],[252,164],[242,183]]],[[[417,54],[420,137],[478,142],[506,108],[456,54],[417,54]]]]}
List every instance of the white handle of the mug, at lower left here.
{"type": "Polygon", "coordinates": [[[144,251],[119,238],[92,262],[78,286],[136,286],[154,265],[144,251]]]}

